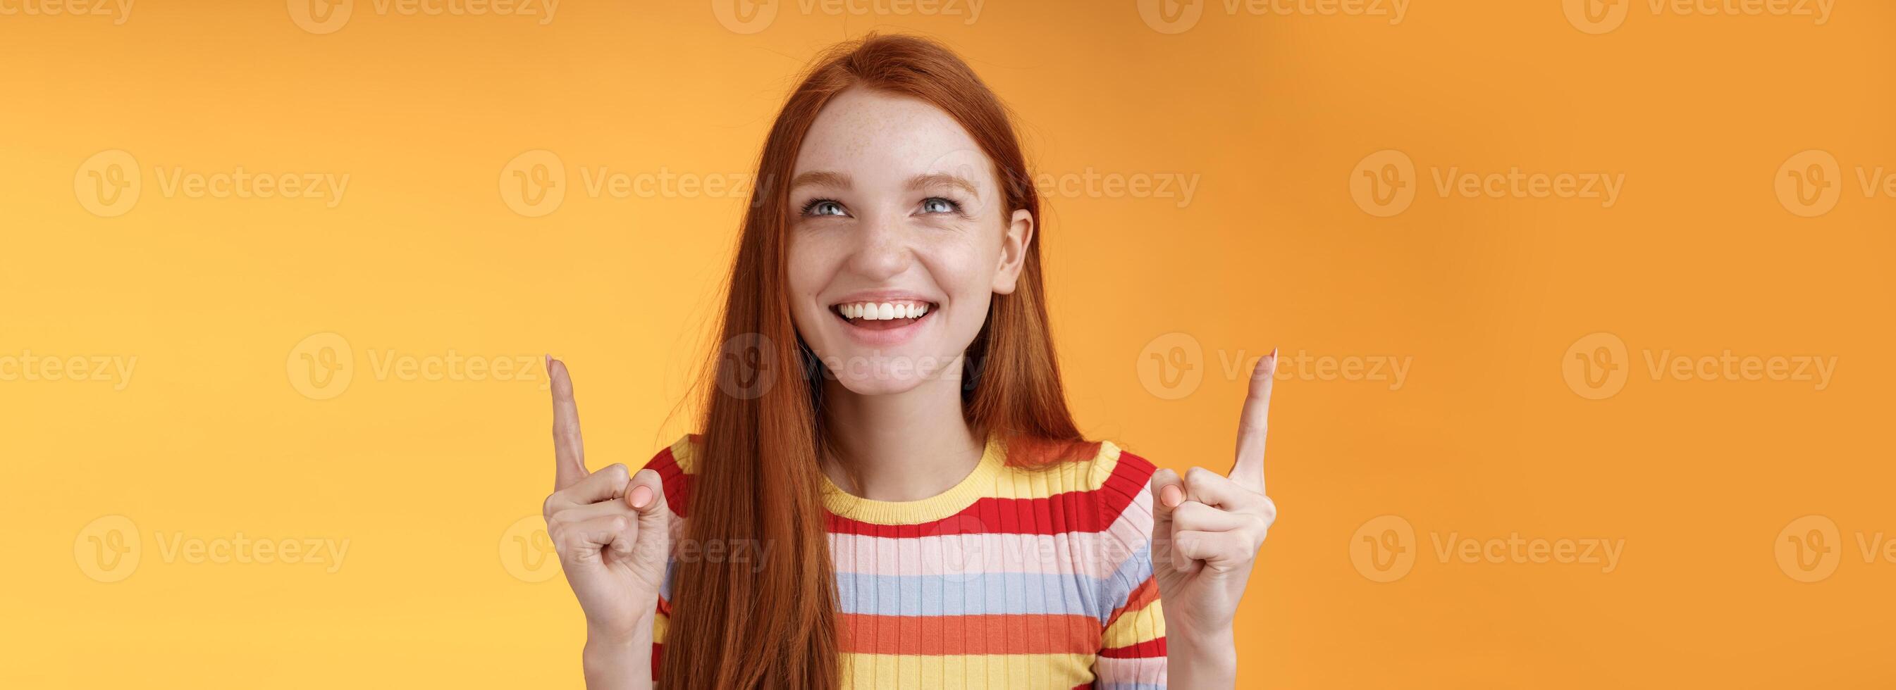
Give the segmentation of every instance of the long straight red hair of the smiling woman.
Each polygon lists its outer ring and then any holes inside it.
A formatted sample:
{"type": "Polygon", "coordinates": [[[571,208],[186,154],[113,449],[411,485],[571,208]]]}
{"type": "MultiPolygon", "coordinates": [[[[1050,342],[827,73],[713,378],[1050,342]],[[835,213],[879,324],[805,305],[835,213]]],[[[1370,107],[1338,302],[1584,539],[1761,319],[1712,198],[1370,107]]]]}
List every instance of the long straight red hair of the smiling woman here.
{"type": "MultiPolygon", "coordinates": [[[[823,55],[785,100],[764,140],[757,186],[732,265],[719,343],[707,375],[703,445],[684,538],[766,544],[753,565],[679,561],[660,686],[836,688],[836,578],[830,565],[817,464],[821,366],[806,354],[791,320],[787,282],[789,190],[804,135],[832,97],[878,89],[929,102],[954,118],[994,161],[1003,220],[1026,209],[1041,220],[1007,108],[950,49],[916,36],[866,36],[823,55]],[[758,358],[724,356],[728,343],[760,349],[758,358]],[[728,381],[768,370],[762,394],[734,394],[728,381]]],[[[1012,294],[997,294],[988,322],[967,349],[963,415],[971,428],[1001,434],[1009,461],[1045,464],[1090,455],[1073,425],[1054,360],[1041,284],[1039,241],[1012,294]]]]}

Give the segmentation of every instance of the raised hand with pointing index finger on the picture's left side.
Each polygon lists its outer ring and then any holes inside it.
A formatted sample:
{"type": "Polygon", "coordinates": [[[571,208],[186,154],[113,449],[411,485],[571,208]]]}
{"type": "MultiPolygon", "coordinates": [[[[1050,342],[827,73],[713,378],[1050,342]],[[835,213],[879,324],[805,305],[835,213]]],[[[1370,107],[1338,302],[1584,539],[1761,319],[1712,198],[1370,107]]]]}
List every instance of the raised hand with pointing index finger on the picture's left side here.
{"type": "Polygon", "coordinates": [[[641,656],[628,662],[648,662],[658,586],[671,554],[664,485],[658,472],[628,476],[624,464],[586,472],[573,377],[552,356],[546,377],[554,390],[556,463],[554,493],[542,508],[546,533],[586,612],[588,648],[626,648],[641,656]],[[637,648],[641,641],[645,648],[637,648]]]}

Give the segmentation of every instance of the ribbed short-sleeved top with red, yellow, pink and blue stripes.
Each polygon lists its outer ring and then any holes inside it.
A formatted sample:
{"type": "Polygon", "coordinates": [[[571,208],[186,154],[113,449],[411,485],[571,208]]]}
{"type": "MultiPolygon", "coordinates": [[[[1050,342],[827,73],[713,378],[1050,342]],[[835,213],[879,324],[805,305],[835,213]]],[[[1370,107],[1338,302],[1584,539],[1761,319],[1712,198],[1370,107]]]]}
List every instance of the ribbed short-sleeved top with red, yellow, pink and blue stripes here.
{"type": "MultiPolygon", "coordinates": [[[[686,436],[658,470],[679,544],[690,506],[686,436]]],[[[1153,464],[1102,442],[1047,468],[988,442],[965,480],[925,500],[868,500],[825,478],[846,688],[1113,688],[1166,684],[1153,580],[1153,464]]],[[[652,673],[671,618],[658,591],[652,673]]]]}

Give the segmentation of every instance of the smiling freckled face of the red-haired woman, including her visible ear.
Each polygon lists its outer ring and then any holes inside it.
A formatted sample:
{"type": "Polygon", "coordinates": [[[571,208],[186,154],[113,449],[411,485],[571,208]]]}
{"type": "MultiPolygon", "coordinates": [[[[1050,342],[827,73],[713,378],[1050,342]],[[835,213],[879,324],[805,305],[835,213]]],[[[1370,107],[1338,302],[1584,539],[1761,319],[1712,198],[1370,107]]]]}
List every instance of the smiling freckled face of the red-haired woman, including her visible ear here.
{"type": "Polygon", "coordinates": [[[823,106],[789,193],[791,317],[857,394],[954,366],[994,294],[1014,292],[1033,235],[954,118],[870,89],[823,106]]]}

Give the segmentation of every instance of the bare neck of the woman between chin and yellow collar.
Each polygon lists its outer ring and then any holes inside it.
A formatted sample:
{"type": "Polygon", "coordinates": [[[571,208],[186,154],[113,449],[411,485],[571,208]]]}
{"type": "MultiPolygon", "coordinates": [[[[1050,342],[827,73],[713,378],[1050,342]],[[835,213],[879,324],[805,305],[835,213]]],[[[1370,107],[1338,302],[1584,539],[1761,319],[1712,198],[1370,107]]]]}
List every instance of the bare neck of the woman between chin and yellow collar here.
{"type": "Polygon", "coordinates": [[[965,480],[988,445],[961,415],[959,375],[878,396],[825,379],[823,413],[834,445],[823,472],[870,500],[937,497],[965,480]]]}

